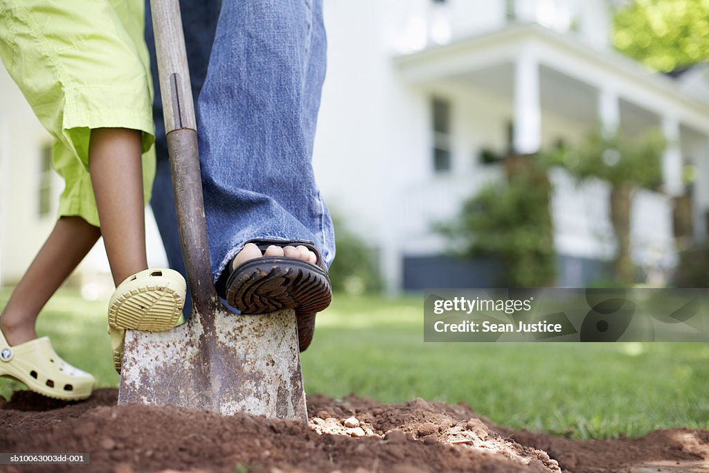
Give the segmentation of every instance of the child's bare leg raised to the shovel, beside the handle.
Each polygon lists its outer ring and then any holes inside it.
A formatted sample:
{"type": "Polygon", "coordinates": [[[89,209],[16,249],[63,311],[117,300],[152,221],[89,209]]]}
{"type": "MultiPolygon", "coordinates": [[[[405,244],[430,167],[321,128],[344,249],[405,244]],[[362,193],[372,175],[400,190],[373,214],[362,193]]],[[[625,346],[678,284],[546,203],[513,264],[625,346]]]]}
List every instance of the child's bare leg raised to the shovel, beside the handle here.
{"type": "Polygon", "coordinates": [[[91,130],[89,172],[113,283],[147,269],[140,131],[91,130]]]}

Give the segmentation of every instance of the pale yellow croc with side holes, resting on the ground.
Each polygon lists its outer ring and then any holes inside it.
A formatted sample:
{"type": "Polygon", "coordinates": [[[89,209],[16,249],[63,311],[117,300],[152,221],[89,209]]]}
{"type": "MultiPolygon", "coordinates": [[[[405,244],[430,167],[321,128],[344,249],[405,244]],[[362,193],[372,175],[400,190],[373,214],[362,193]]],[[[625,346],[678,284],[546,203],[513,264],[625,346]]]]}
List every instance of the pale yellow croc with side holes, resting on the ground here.
{"type": "Polygon", "coordinates": [[[48,337],[11,347],[0,330],[0,376],[17,379],[36,393],[63,401],[91,396],[96,380],[60,358],[48,337]]]}

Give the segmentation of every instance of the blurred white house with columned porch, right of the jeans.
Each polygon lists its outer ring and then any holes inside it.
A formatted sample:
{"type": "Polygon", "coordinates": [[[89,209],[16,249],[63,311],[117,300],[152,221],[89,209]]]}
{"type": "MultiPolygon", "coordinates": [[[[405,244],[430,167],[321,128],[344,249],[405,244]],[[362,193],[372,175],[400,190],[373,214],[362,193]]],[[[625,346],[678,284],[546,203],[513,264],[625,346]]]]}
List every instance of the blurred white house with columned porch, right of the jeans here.
{"type": "MultiPolygon", "coordinates": [[[[328,204],[381,255],[391,291],[490,284],[445,255],[432,223],[503,174],[481,150],[533,153],[599,123],[664,130],[663,192],[635,198],[635,262],[676,262],[675,198],[691,185],[695,238],[709,206],[709,79],[672,79],[613,50],[603,0],[326,1],[328,77],[315,167],[328,204]]],[[[701,68],[698,68],[701,69],[701,68]]],[[[553,172],[559,284],[596,276],[615,251],[608,187],[553,172]]]]}

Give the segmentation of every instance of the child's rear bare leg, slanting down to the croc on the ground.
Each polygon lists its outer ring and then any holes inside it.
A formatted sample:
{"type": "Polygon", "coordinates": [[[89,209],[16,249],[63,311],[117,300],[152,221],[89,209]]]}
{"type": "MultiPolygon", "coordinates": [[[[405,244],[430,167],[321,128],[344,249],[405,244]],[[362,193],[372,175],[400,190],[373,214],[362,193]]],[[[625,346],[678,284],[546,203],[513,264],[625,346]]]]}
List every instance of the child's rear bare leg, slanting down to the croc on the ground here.
{"type": "Polygon", "coordinates": [[[80,217],[62,217],[2,311],[0,328],[10,345],[37,338],[35,321],[52,294],[94,247],[101,230],[80,217]]]}

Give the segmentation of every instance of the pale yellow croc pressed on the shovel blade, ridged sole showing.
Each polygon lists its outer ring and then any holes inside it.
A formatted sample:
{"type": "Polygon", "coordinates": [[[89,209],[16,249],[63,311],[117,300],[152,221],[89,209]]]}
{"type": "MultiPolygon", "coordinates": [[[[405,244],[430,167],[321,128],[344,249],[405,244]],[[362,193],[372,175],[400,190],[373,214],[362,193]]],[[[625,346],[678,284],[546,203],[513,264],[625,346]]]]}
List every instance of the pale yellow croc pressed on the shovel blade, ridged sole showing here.
{"type": "Polygon", "coordinates": [[[108,303],[113,367],[121,372],[125,330],[164,332],[182,322],[184,277],[174,269],[145,269],[118,284],[108,303]]]}

